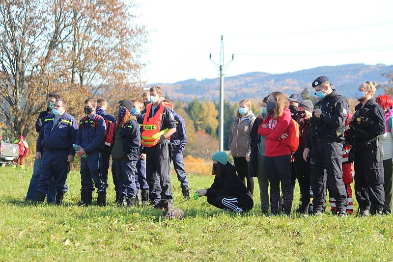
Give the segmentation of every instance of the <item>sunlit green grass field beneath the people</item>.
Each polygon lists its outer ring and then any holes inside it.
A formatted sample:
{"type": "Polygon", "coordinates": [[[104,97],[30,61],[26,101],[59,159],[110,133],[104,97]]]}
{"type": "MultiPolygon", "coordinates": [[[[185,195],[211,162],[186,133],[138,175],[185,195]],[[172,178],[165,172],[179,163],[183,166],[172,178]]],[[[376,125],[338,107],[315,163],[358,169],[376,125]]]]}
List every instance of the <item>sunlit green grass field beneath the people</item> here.
{"type": "MultiPolygon", "coordinates": [[[[168,221],[150,207],[116,207],[112,185],[107,207],[78,208],[79,172],[69,175],[63,206],[23,204],[31,172],[0,169],[0,261],[393,260],[392,216],[265,217],[256,180],[254,209],[244,216],[213,208],[205,198],[176,205],[182,199],[174,181],[175,205],[185,218],[168,221]]],[[[212,180],[189,176],[193,191],[212,180]]]]}

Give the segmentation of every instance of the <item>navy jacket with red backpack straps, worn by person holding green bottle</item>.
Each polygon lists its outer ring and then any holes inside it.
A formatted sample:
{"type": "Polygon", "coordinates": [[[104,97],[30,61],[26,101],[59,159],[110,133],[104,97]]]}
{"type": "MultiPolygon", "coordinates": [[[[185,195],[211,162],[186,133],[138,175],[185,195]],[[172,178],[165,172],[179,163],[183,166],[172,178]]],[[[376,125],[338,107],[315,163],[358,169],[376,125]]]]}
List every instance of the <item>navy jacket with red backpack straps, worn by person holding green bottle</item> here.
{"type": "Polygon", "coordinates": [[[81,125],[83,118],[79,122],[78,134],[75,140],[75,144],[80,145],[84,151],[89,154],[102,149],[102,142],[104,141],[105,135],[105,121],[104,118],[100,118],[97,121],[97,128],[94,127],[94,119],[97,116],[96,113],[91,118],[86,117],[87,123],[81,125]]]}

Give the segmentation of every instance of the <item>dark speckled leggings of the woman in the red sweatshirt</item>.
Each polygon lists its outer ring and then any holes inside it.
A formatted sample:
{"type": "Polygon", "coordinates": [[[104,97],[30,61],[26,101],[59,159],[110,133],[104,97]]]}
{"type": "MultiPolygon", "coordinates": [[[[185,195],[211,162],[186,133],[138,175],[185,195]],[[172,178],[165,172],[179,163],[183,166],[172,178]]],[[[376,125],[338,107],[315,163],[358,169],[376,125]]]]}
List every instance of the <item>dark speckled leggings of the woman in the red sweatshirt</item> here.
{"type": "Polygon", "coordinates": [[[293,191],[291,182],[291,156],[265,157],[265,167],[270,182],[270,206],[272,214],[278,214],[280,202],[280,182],[283,211],[289,214],[292,209],[293,191]]]}

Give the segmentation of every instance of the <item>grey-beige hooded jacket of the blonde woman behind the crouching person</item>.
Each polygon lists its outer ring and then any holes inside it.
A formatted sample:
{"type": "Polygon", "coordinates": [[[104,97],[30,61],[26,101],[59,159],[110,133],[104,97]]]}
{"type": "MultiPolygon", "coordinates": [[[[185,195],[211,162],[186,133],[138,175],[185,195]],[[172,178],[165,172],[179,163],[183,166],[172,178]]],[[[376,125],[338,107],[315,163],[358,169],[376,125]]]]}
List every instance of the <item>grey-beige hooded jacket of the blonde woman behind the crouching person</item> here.
{"type": "Polygon", "coordinates": [[[239,123],[239,118],[236,116],[229,131],[229,149],[232,157],[246,157],[251,153],[251,128],[255,116],[252,112],[243,117],[239,123]]]}

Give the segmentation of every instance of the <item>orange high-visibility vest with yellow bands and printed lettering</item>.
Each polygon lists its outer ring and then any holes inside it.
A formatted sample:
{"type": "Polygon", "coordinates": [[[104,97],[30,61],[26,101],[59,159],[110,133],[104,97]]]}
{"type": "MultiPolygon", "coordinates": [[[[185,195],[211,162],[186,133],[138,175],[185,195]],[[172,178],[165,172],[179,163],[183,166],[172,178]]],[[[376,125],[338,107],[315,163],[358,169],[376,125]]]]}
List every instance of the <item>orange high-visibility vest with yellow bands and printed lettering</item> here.
{"type": "Polygon", "coordinates": [[[142,140],[140,143],[145,147],[154,147],[157,145],[161,136],[168,131],[168,128],[160,131],[165,104],[161,103],[156,114],[149,117],[152,105],[153,104],[146,105],[146,114],[143,118],[142,140]]]}

